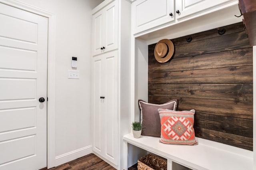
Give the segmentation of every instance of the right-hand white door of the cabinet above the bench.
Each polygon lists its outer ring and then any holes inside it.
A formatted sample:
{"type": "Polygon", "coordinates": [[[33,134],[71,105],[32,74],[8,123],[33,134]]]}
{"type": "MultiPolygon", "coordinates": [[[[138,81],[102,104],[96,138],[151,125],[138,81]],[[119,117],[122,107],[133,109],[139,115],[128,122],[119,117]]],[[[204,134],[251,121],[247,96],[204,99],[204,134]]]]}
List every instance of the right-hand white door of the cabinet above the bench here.
{"type": "Polygon", "coordinates": [[[234,0],[176,0],[176,19],[179,20],[192,15],[199,16],[200,12],[231,1],[234,2],[234,0]]]}

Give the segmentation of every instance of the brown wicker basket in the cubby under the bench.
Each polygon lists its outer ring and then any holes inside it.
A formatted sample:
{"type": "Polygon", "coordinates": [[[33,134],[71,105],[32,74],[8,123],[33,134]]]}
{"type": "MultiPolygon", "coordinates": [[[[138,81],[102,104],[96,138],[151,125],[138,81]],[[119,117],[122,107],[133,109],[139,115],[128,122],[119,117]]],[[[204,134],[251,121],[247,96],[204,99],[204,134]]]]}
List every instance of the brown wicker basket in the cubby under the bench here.
{"type": "Polygon", "coordinates": [[[138,160],[138,170],[167,170],[167,161],[147,154],[138,160]]]}

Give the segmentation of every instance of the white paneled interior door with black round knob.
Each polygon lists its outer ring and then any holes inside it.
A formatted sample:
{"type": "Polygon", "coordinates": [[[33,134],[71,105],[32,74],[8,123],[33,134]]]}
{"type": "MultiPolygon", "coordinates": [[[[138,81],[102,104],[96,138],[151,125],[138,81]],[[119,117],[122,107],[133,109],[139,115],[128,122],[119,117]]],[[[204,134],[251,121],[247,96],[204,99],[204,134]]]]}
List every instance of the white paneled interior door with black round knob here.
{"type": "Polygon", "coordinates": [[[48,18],[0,3],[0,170],[46,167],[48,18]]]}

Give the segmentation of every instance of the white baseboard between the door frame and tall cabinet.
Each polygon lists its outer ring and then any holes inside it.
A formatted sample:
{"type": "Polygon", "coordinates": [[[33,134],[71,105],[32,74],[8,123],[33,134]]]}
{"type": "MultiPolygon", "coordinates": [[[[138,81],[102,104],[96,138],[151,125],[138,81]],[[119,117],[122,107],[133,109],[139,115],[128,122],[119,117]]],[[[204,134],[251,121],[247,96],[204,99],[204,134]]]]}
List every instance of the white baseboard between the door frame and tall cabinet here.
{"type": "Polygon", "coordinates": [[[62,154],[60,156],[56,156],[55,157],[55,166],[59,166],[61,164],[67,163],[71,160],[88,155],[90,153],[92,153],[92,145],[86,146],[84,148],[80,148],[78,150],[74,150],[72,152],[68,152],[66,154],[62,154]]]}

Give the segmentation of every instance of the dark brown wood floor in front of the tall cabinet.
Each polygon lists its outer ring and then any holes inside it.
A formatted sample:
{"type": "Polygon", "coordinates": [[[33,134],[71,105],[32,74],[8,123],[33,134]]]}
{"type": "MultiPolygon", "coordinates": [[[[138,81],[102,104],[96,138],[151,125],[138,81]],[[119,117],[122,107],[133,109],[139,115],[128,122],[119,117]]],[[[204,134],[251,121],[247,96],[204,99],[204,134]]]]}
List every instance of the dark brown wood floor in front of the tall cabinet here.
{"type": "MultiPolygon", "coordinates": [[[[42,170],[46,170],[42,169],[42,170]]],[[[88,154],[49,170],[116,170],[95,154],[88,154]]]]}

